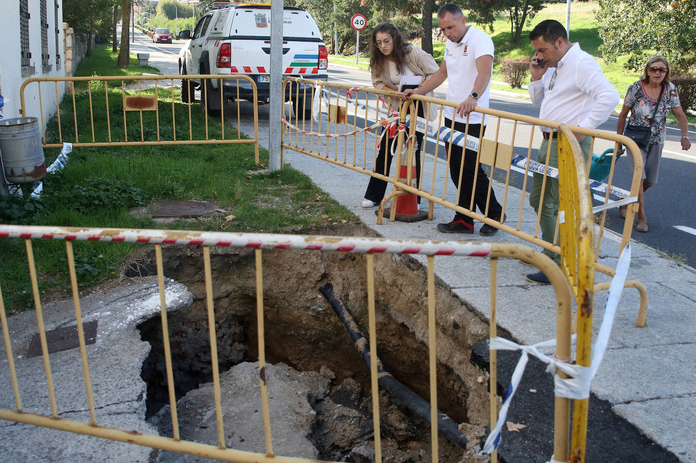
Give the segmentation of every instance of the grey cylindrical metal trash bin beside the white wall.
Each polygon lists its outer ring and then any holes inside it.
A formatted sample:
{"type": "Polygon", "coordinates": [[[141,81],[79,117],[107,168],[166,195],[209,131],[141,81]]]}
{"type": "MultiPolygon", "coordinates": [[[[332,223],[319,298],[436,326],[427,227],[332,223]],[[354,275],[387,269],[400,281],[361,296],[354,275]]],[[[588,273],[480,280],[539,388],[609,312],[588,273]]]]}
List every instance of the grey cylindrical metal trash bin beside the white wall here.
{"type": "Polygon", "coordinates": [[[0,120],[0,156],[10,183],[31,183],[46,176],[38,118],[0,120]]]}

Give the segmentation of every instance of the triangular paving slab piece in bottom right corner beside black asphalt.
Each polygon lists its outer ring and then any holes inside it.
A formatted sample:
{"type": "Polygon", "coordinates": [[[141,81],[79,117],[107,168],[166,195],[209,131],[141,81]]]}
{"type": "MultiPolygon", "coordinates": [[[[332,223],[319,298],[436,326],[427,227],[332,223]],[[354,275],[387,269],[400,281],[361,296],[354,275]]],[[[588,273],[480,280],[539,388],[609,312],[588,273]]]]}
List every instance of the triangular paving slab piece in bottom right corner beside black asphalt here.
{"type": "Polygon", "coordinates": [[[696,439],[693,418],[696,397],[647,400],[615,405],[612,409],[628,421],[638,424],[645,435],[679,457],[682,462],[696,463],[696,439]]]}

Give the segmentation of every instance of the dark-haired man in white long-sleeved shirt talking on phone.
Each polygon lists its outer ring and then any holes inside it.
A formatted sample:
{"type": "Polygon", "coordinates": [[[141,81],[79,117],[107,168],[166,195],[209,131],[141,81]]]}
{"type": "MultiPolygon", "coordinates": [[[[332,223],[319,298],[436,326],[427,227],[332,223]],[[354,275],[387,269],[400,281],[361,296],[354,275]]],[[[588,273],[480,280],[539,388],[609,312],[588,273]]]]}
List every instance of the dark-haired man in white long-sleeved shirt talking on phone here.
{"type": "MultiPolygon", "coordinates": [[[[619,93],[604,77],[594,58],[583,52],[577,43],[568,41],[562,24],[555,19],[546,19],[532,29],[529,38],[535,51],[529,66],[529,94],[532,103],[540,107],[539,118],[589,129],[607,120],[619,104],[619,93]]],[[[541,132],[544,140],[539,147],[537,162],[546,164],[548,153],[548,165],[558,167],[557,132],[549,127],[541,127],[541,132]]],[[[592,139],[580,134],[576,134],[576,139],[587,162],[592,139]]],[[[541,239],[553,243],[558,218],[558,180],[547,177],[542,192],[543,180],[543,175],[534,174],[529,202],[537,213],[541,207],[541,239]]],[[[560,265],[557,253],[547,249],[544,253],[560,265]]],[[[549,283],[543,272],[528,274],[527,279],[534,283],[549,283]]]]}

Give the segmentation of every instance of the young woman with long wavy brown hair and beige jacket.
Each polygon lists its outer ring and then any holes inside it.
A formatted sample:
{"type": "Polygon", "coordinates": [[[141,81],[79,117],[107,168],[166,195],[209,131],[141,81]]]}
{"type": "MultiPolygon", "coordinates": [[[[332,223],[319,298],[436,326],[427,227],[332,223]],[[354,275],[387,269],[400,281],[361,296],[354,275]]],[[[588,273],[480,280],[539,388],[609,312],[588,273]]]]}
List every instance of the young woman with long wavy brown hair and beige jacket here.
{"type": "MultiPolygon", "coordinates": [[[[372,74],[372,86],[382,90],[396,91],[402,76],[420,76],[423,81],[429,79],[438,70],[434,58],[420,47],[411,45],[404,40],[399,29],[394,24],[384,22],[378,24],[372,30],[370,38],[370,74],[372,74]]],[[[433,97],[433,93],[427,96],[433,97]]],[[[398,101],[390,101],[390,107],[398,109],[398,101]]],[[[418,104],[418,117],[423,118],[423,105],[418,104]]],[[[435,105],[429,107],[428,120],[435,120],[435,105]]],[[[392,161],[392,144],[396,143],[396,136],[389,138],[388,131],[383,130],[379,143],[379,152],[374,162],[374,171],[382,175],[389,175],[392,161]],[[387,133],[384,133],[387,132],[387,133]]],[[[416,180],[420,181],[420,150],[422,150],[423,134],[416,132],[416,180]]],[[[363,207],[374,207],[379,204],[386,193],[387,182],[380,178],[370,177],[370,183],[365,191],[363,207]]],[[[420,196],[418,196],[420,203],[420,196]]]]}

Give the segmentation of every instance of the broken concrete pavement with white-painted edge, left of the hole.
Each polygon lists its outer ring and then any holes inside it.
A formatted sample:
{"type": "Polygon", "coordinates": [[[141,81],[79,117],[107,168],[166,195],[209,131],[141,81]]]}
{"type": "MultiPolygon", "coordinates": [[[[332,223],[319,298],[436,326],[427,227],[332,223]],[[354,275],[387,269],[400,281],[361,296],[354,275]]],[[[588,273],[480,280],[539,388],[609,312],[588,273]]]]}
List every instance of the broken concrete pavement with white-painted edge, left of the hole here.
{"type": "MultiPolygon", "coordinates": [[[[186,287],[173,280],[166,280],[165,295],[169,311],[182,310],[192,301],[186,287]]],[[[97,424],[157,434],[144,421],[147,389],[140,373],[150,344],[141,340],[137,329],[140,322],[160,312],[157,278],[125,278],[116,287],[102,288],[80,302],[84,321],[98,320],[97,340],[86,347],[97,424]]],[[[46,304],[43,313],[47,330],[75,324],[72,299],[46,304]]],[[[50,415],[43,357],[27,359],[24,355],[37,331],[35,317],[35,311],[8,317],[8,329],[24,411],[50,415]]],[[[4,343],[0,358],[0,407],[17,409],[4,343]]],[[[49,359],[58,416],[90,423],[79,349],[56,352],[49,359]]],[[[9,421],[0,422],[0,442],[8,447],[5,455],[13,456],[3,459],[8,462],[104,462],[113,455],[119,455],[120,461],[148,462],[151,452],[146,447],[9,421]]]]}

